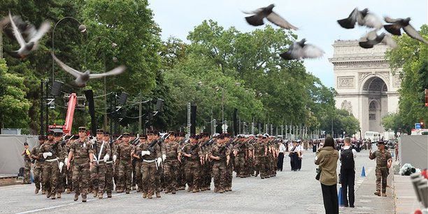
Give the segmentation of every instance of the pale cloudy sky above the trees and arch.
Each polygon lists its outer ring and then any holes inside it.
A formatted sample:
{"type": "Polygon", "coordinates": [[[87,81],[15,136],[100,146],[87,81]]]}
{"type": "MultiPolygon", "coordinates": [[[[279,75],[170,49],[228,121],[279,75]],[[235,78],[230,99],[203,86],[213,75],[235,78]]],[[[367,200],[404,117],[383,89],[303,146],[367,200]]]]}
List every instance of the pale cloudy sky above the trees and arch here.
{"type": "MultiPolygon", "coordinates": [[[[149,3],[155,14],[155,22],[162,29],[162,40],[174,36],[185,43],[189,43],[186,39],[189,32],[204,20],[218,22],[224,29],[234,26],[243,32],[264,29],[264,26],[249,25],[241,11],[274,3],[273,11],[299,28],[295,31],[298,40],[306,38],[306,43],[324,50],[324,57],[306,59],[304,65],[306,71],[320,78],[327,87],[334,87],[333,64],[329,62],[329,58],[333,57],[334,41],[355,40],[370,30],[366,27],[343,29],[337,24],[336,20],[348,17],[355,7],[360,10],[369,8],[380,18],[386,15],[392,18],[411,17],[410,23],[417,30],[428,22],[428,0],[149,0],[149,3]]],[[[265,20],[265,23],[268,21],[265,20]]]]}

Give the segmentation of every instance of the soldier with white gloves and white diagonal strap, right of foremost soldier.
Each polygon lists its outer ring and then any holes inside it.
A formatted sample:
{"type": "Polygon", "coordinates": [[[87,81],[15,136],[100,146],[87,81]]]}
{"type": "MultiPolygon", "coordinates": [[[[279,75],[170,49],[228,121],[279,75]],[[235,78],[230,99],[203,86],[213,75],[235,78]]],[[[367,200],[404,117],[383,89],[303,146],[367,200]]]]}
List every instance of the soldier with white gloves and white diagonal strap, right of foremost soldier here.
{"type": "Polygon", "coordinates": [[[97,129],[97,139],[92,142],[92,150],[95,152],[91,172],[93,194],[94,197],[102,199],[106,185],[106,162],[110,159],[110,145],[108,141],[104,141],[103,129],[97,129]]]}

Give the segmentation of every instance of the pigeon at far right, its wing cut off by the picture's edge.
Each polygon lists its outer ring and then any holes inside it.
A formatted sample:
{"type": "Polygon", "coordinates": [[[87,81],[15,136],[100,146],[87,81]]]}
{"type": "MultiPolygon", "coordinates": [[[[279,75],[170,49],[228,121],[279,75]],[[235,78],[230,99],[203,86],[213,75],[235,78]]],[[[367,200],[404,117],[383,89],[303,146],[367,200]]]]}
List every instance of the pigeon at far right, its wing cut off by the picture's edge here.
{"type": "Polygon", "coordinates": [[[422,41],[422,43],[428,44],[428,42],[419,34],[419,32],[409,23],[411,21],[411,17],[406,17],[405,19],[392,19],[390,17],[384,17],[385,22],[391,24],[385,24],[383,27],[385,30],[390,32],[391,34],[401,36],[401,28],[410,36],[411,38],[415,38],[418,41],[422,41]]]}

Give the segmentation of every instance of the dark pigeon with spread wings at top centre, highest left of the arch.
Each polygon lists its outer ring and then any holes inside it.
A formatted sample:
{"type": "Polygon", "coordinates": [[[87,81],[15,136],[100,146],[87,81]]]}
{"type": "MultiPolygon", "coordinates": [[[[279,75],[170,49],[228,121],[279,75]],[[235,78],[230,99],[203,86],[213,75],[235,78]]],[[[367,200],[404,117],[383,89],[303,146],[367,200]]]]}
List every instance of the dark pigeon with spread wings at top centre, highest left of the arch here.
{"type": "Polygon", "coordinates": [[[252,26],[260,26],[264,24],[263,19],[266,17],[269,22],[276,24],[278,27],[282,27],[284,29],[298,29],[297,27],[294,27],[292,24],[290,24],[290,22],[287,22],[287,20],[285,20],[283,17],[280,17],[280,15],[273,12],[273,7],[275,7],[275,5],[272,3],[265,8],[258,8],[257,10],[250,12],[243,11],[243,13],[246,14],[255,14],[245,17],[245,20],[247,20],[248,24],[251,24],[252,26]]]}

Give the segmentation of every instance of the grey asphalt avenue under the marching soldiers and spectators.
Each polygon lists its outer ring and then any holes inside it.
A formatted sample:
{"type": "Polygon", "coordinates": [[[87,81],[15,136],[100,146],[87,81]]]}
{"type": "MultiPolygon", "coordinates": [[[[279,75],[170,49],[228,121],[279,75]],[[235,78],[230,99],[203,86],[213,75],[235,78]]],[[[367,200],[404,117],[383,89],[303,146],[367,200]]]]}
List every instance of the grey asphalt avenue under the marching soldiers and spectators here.
{"type": "MultiPolygon", "coordinates": [[[[285,157],[284,171],[269,179],[234,178],[232,192],[211,191],[162,194],[162,198],[143,199],[141,193],[114,193],[111,199],[95,199],[88,194],[87,203],[73,201],[72,194],[62,199],[46,199],[34,194],[34,185],[0,187],[0,213],[324,213],[321,187],[315,180],[314,153],[304,153],[301,171],[290,171],[290,159],[285,157]]],[[[341,213],[393,213],[390,188],[388,197],[373,195],[375,161],[368,151],[356,159],[355,208],[340,208],[341,213]],[[361,177],[362,166],[366,177],[361,177]]],[[[391,178],[389,176],[389,178],[391,178]]],[[[388,180],[388,185],[391,185],[388,180]]],[[[338,186],[339,187],[339,186],[338,186]]]]}

